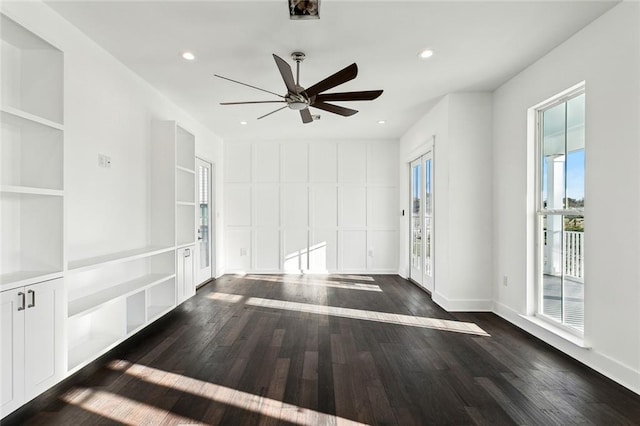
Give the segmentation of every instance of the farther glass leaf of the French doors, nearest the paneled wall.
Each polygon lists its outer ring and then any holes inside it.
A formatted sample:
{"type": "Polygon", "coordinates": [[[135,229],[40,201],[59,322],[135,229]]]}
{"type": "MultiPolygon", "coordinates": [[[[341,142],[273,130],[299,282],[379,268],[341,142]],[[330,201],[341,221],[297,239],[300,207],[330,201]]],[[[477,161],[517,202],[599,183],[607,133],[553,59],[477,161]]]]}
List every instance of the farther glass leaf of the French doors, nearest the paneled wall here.
{"type": "Polygon", "coordinates": [[[409,278],[418,284],[423,282],[423,242],[422,242],[422,158],[411,162],[411,271],[409,278]]]}

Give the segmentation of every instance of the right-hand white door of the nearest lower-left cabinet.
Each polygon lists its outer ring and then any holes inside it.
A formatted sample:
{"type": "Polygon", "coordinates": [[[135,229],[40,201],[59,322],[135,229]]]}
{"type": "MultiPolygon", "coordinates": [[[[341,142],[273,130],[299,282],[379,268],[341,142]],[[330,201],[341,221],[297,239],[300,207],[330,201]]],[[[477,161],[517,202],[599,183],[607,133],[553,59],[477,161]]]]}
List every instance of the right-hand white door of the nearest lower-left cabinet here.
{"type": "Polygon", "coordinates": [[[25,287],[25,395],[53,386],[64,369],[64,297],[62,280],[25,287]]]}

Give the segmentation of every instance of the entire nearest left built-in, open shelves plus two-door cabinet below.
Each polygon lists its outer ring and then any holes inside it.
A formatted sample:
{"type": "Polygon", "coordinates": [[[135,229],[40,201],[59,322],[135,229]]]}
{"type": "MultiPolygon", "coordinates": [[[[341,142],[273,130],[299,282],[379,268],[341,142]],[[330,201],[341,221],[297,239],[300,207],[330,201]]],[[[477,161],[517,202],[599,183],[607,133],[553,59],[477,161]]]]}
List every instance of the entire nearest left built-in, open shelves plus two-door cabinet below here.
{"type": "Polygon", "coordinates": [[[64,377],[61,50],[0,14],[0,417],[64,377]]]}

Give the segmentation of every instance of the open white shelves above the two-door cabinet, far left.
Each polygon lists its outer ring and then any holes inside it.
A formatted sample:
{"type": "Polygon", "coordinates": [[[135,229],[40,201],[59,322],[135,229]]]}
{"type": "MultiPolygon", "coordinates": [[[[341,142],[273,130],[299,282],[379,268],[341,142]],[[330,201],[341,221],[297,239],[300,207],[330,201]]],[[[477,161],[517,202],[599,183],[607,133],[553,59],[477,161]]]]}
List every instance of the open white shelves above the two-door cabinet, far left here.
{"type": "Polygon", "coordinates": [[[64,55],[5,15],[0,31],[0,288],[8,290],[63,271],[64,55]]]}

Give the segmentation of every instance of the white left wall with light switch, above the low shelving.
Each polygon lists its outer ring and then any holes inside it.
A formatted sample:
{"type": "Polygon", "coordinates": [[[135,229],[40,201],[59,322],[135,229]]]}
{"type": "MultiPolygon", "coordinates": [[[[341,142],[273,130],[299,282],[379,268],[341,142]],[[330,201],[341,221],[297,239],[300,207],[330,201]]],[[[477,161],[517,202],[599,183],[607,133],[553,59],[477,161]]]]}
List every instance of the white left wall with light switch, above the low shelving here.
{"type": "Polygon", "coordinates": [[[46,5],[3,2],[2,11],[64,52],[68,259],[145,246],[151,121],[176,120],[192,130],[196,154],[213,162],[221,161],[221,139],[46,5]],[[111,168],[98,167],[98,154],[111,157],[111,168]]]}

